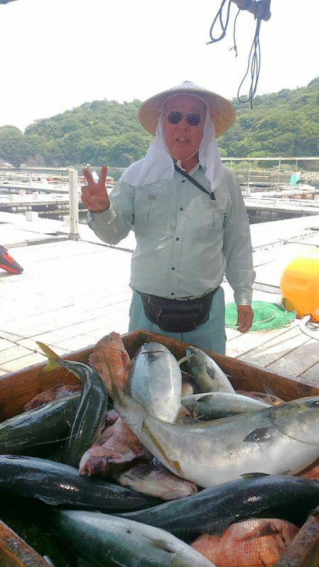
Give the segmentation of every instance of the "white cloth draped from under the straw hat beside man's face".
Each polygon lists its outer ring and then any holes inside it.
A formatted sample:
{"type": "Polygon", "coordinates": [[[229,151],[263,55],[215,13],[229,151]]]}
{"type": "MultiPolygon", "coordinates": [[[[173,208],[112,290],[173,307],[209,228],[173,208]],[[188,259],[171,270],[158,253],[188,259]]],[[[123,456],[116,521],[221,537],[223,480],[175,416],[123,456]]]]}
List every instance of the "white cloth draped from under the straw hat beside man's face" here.
{"type": "MultiPolygon", "coordinates": [[[[198,149],[198,162],[203,167],[211,185],[211,191],[214,191],[220,182],[223,164],[216,144],[215,126],[211,121],[208,108],[206,109],[203,125],[203,137],[198,149]]],[[[145,157],[130,165],[128,169],[125,169],[120,181],[140,187],[152,183],[160,183],[161,181],[169,181],[174,178],[174,174],[174,162],[165,142],[164,123],[161,114],[155,138],[152,140],[145,157]]]]}

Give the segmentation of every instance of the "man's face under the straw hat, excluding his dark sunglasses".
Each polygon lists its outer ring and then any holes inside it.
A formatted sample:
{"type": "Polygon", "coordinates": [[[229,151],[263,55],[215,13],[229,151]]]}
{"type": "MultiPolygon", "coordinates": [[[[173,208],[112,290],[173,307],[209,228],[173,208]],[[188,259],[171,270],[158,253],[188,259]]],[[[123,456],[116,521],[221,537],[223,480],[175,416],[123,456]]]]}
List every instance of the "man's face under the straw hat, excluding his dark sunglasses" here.
{"type": "Polygon", "coordinates": [[[205,116],[206,105],[189,94],[177,94],[164,103],[163,114],[165,115],[164,133],[166,145],[172,156],[181,161],[187,159],[198,150],[203,136],[203,123],[205,119],[201,118],[197,126],[191,126],[186,119],[186,114],[189,112],[205,116]],[[183,113],[179,123],[171,124],[169,122],[167,114],[171,111],[183,113]]]}

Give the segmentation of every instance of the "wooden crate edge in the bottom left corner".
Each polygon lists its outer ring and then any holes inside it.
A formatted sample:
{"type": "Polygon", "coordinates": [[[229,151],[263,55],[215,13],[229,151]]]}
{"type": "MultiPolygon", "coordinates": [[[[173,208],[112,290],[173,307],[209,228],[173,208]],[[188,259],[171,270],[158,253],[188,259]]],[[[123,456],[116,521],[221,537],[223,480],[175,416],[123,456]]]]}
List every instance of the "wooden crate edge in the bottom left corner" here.
{"type": "Polygon", "coordinates": [[[47,567],[48,563],[0,520],[0,567],[47,567]]]}

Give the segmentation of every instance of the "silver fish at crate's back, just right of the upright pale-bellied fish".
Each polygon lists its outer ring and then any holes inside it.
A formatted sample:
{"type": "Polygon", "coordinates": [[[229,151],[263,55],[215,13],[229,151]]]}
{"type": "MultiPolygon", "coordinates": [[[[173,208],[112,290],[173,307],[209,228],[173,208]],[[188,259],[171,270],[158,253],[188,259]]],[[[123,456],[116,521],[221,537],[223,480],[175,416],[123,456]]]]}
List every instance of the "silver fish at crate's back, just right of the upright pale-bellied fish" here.
{"type": "Polygon", "coordinates": [[[223,370],[201,349],[197,349],[196,347],[187,347],[186,361],[189,374],[194,376],[197,393],[235,393],[233,386],[223,370]]]}

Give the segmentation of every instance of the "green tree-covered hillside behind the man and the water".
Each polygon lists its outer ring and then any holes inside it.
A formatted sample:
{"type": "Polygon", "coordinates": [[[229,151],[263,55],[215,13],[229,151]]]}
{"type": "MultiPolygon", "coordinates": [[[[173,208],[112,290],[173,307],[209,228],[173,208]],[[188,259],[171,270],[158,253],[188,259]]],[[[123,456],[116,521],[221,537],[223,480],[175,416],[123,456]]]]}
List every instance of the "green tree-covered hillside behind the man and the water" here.
{"type": "MultiPolygon", "coordinates": [[[[319,77],[308,86],[256,96],[254,108],[234,99],[237,120],[218,140],[223,156],[319,155],[319,77]]],[[[152,137],[138,123],[140,101],[86,102],[35,120],[25,133],[0,128],[0,158],[19,166],[90,162],[125,167],[145,155],[152,137]]]]}

